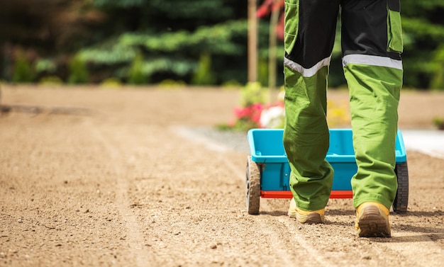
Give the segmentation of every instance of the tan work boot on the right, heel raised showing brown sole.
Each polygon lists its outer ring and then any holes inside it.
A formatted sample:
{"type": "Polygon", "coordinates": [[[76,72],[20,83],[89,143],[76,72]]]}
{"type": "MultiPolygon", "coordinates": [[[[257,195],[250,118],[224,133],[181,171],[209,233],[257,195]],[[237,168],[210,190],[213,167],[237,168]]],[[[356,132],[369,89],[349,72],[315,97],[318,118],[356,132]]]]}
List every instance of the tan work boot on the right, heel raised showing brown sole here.
{"type": "Polygon", "coordinates": [[[381,203],[365,202],[356,209],[359,237],[391,237],[389,209],[381,203]]]}

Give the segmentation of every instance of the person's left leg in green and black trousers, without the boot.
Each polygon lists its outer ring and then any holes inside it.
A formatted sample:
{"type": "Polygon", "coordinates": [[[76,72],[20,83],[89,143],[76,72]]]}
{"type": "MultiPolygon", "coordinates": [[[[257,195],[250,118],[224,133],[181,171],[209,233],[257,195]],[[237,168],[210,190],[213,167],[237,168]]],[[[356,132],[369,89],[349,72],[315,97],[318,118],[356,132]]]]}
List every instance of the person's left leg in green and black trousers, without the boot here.
{"type": "Polygon", "coordinates": [[[333,184],[326,161],[328,64],[339,0],[285,1],[284,147],[292,170],[290,188],[297,208],[325,208],[333,184]]]}

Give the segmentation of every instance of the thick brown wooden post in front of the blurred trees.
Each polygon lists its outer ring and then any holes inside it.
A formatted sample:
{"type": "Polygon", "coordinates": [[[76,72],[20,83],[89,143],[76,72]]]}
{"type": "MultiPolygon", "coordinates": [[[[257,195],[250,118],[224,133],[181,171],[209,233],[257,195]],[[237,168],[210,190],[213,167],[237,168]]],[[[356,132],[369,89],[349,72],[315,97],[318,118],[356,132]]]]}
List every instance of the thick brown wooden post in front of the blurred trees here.
{"type": "Polygon", "coordinates": [[[257,0],[248,0],[248,81],[257,81],[257,0]]]}

